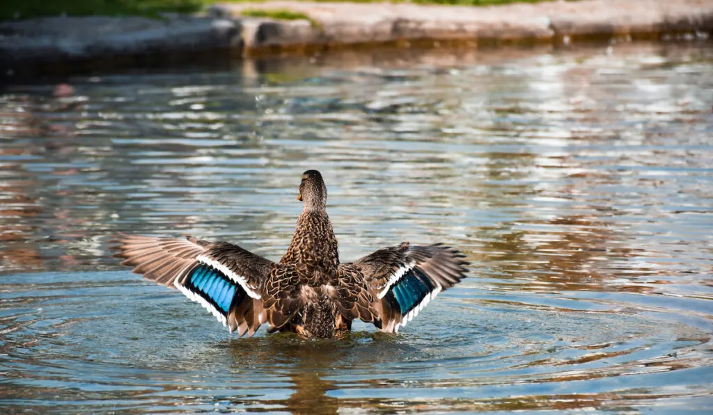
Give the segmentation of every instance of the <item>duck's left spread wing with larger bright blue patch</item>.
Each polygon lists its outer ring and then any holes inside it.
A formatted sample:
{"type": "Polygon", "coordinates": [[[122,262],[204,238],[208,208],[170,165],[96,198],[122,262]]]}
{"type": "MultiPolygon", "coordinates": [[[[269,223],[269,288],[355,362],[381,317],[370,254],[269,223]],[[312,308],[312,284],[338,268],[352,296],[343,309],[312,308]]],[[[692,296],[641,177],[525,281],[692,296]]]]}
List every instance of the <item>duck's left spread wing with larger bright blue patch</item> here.
{"type": "Polygon", "coordinates": [[[200,303],[217,320],[253,335],[265,322],[262,286],[275,263],[225,242],[191,238],[157,238],[120,233],[116,238],[124,258],[121,265],[133,273],[170,288],[200,303]]]}

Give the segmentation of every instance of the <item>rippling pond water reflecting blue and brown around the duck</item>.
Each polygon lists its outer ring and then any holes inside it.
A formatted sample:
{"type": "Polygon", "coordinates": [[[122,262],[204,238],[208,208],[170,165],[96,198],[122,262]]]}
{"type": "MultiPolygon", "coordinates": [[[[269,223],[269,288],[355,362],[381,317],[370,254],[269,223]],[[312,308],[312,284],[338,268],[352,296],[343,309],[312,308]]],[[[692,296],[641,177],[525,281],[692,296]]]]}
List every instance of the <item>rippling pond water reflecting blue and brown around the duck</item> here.
{"type": "Polygon", "coordinates": [[[381,51],[9,85],[0,409],[682,414],[713,406],[713,48],[381,51]],[[343,260],[458,246],[396,336],[237,339],[117,231],[287,248],[319,169],[343,260]]]}

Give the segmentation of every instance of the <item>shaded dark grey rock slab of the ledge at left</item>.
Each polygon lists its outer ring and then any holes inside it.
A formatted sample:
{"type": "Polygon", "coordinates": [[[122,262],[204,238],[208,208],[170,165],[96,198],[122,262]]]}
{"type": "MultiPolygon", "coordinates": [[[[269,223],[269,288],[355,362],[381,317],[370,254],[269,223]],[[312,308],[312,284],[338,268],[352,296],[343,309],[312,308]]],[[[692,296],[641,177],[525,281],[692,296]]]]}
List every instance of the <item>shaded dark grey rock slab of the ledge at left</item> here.
{"type": "Polygon", "coordinates": [[[50,17],[0,23],[0,68],[241,48],[240,21],[208,16],[50,17]]]}

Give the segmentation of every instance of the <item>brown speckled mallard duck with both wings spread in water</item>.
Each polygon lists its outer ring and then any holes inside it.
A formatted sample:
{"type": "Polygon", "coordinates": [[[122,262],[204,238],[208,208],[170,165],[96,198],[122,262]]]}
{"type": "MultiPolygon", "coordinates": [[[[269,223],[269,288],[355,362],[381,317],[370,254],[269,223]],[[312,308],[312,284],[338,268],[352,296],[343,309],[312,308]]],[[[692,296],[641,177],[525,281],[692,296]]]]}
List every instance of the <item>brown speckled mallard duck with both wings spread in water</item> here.
{"type": "Polygon", "coordinates": [[[267,322],[267,332],[341,337],[355,319],[398,332],[441,290],[466,276],[464,256],[440,243],[403,242],[340,263],[322,174],[302,174],[297,200],[304,209],[279,262],[232,243],[190,236],[120,234],[115,256],[134,273],[178,288],[238,336],[252,336],[267,322]]]}

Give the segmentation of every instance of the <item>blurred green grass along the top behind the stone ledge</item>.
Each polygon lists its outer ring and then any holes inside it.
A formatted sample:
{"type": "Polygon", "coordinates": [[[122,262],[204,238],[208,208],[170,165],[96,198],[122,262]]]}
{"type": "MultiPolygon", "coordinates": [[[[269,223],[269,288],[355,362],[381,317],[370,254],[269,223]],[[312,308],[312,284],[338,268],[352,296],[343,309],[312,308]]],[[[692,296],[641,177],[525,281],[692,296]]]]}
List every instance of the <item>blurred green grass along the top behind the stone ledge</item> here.
{"type": "MultiPolygon", "coordinates": [[[[227,0],[228,2],[245,2],[250,0],[227,0]]],[[[315,0],[344,1],[344,0],[315,0]]],[[[389,0],[352,0],[355,3],[379,3],[389,0]]],[[[391,0],[399,3],[404,0],[391,0]]],[[[461,4],[471,6],[488,6],[491,4],[507,4],[516,2],[537,3],[550,0],[411,0],[419,4],[461,4]]],[[[252,2],[260,2],[260,0],[252,2]]],[[[215,0],[0,0],[0,20],[29,19],[40,16],[150,16],[156,17],[162,12],[193,13],[216,3],[215,0]]],[[[260,10],[253,11],[260,13],[260,10]]],[[[267,12],[272,13],[272,12],[267,12]]],[[[247,15],[246,15],[247,16],[247,15]]],[[[256,16],[256,15],[253,15],[256,16]]],[[[257,17],[257,16],[256,16],[257,17]]],[[[275,11],[272,19],[295,20],[307,19],[304,14],[292,11],[275,11]]],[[[311,20],[310,20],[311,21],[311,20]]]]}

